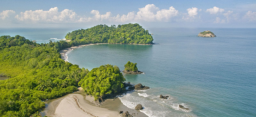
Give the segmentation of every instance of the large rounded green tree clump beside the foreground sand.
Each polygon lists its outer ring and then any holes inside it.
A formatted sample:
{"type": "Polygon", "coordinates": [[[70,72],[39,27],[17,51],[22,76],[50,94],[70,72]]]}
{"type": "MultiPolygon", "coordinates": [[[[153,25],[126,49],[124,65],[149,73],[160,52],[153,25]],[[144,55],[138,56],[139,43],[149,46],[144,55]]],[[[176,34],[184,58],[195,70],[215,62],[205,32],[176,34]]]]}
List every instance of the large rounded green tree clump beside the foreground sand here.
{"type": "Polygon", "coordinates": [[[117,66],[104,65],[93,68],[79,84],[84,91],[94,96],[94,99],[107,94],[118,93],[124,87],[125,78],[117,66]]]}

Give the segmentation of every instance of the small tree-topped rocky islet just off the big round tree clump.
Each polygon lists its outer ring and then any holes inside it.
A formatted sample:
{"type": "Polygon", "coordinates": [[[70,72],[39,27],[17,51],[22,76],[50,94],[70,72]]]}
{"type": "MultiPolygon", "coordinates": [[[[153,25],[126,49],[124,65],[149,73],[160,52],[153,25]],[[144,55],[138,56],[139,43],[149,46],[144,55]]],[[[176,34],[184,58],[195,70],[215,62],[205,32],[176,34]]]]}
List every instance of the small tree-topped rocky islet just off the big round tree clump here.
{"type": "Polygon", "coordinates": [[[138,71],[137,68],[137,63],[132,63],[130,61],[128,61],[125,65],[124,65],[124,74],[142,74],[143,72],[138,71]]]}

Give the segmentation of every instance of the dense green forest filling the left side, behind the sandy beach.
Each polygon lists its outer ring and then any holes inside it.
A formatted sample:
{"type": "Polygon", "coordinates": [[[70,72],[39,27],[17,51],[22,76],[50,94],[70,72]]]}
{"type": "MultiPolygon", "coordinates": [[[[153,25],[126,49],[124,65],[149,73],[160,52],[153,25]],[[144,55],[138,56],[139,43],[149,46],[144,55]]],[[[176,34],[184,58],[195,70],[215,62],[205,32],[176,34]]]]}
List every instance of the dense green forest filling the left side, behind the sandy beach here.
{"type": "Polygon", "coordinates": [[[76,91],[89,72],[60,58],[65,41],[37,44],[17,35],[1,36],[0,45],[0,73],[12,77],[0,81],[0,116],[37,116],[41,100],[76,91]]]}

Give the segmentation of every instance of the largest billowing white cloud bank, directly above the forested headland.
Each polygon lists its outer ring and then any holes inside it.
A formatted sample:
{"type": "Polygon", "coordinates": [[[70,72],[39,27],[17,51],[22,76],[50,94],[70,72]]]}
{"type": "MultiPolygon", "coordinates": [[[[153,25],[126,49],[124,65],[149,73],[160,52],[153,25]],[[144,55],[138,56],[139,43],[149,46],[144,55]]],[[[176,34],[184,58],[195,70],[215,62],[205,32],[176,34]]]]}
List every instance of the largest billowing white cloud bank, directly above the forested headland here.
{"type": "Polygon", "coordinates": [[[92,20],[108,20],[116,22],[131,22],[131,21],[168,21],[171,17],[177,16],[178,10],[174,7],[169,9],[159,9],[154,4],[148,4],[143,8],[139,8],[138,12],[128,12],[127,15],[111,16],[111,12],[100,14],[97,10],[92,10],[92,18],[80,18],[78,22],[88,22],[92,20]]]}

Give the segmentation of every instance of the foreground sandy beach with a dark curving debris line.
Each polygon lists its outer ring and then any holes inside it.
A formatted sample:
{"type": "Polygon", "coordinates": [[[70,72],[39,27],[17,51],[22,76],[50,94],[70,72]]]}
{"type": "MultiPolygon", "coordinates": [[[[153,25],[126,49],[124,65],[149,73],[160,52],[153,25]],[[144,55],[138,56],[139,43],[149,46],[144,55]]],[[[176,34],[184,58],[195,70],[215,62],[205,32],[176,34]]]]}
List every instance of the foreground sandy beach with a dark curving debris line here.
{"type": "Polygon", "coordinates": [[[120,117],[119,111],[128,111],[133,116],[148,117],[144,113],[124,106],[118,98],[107,99],[100,107],[92,104],[92,96],[84,96],[83,90],[64,97],[49,100],[42,116],[51,117],[120,117]]]}

